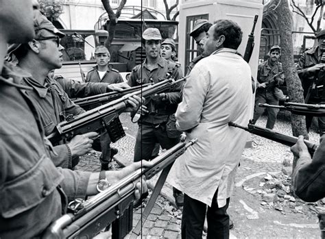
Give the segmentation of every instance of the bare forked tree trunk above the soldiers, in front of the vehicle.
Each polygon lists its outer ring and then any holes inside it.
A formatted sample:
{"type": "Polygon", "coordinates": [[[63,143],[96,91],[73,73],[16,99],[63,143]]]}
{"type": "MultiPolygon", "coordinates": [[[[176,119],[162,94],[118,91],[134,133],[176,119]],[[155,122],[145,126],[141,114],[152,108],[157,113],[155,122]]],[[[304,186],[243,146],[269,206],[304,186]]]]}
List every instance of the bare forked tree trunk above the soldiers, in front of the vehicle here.
{"type": "Polygon", "coordinates": [[[117,21],[119,20],[119,16],[121,16],[122,9],[124,8],[124,5],[126,3],[126,0],[121,0],[121,3],[119,3],[119,7],[117,8],[116,12],[112,10],[112,7],[110,6],[110,0],[101,0],[101,3],[103,3],[104,9],[106,10],[108,14],[108,18],[110,19],[107,29],[108,29],[108,39],[105,42],[105,46],[110,49],[110,45],[112,44],[112,40],[115,37],[115,29],[117,27],[117,21]]]}

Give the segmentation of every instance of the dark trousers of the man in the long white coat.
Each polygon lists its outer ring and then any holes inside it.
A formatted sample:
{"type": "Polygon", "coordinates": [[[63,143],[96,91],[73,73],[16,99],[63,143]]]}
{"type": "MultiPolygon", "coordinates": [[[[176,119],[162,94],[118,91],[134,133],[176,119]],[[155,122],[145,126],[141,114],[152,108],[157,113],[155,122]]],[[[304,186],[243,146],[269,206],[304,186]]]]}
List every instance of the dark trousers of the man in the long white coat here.
{"type": "Polygon", "coordinates": [[[205,203],[184,194],[182,239],[202,239],[205,217],[208,221],[207,239],[229,238],[229,216],[226,211],[230,198],[227,199],[224,207],[219,208],[217,192],[213,196],[211,207],[208,207],[208,212],[206,212],[207,205],[205,203]]]}

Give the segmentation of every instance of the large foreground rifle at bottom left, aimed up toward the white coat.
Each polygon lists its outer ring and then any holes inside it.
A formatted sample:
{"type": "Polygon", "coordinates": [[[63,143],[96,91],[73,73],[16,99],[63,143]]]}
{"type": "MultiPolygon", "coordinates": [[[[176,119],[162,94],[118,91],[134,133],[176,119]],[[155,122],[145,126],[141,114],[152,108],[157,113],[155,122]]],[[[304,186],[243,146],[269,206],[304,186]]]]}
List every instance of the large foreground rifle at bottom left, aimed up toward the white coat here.
{"type": "Polygon", "coordinates": [[[151,161],[153,165],[149,168],[139,168],[91,199],[75,199],[69,203],[68,213],[47,228],[44,238],[93,238],[113,222],[112,238],[123,238],[132,229],[132,203],[136,183],[143,175],[146,179],[151,179],[162,169],[171,166],[195,142],[196,138],[189,142],[179,142],[154,158],[151,161]],[[126,212],[129,207],[130,210],[126,212]],[[128,228],[121,228],[119,220],[125,213],[128,213],[128,228]]]}

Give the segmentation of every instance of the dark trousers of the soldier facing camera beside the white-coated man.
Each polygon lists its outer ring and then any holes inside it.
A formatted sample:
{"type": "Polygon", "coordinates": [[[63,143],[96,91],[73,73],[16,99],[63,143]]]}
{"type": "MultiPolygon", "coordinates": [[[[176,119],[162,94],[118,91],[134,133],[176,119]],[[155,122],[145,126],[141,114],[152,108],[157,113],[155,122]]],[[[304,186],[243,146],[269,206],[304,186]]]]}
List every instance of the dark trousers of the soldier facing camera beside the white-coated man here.
{"type": "Polygon", "coordinates": [[[170,149],[178,142],[180,142],[179,137],[169,138],[167,136],[166,123],[160,125],[139,123],[134,147],[134,162],[151,160],[156,143],[159,143],[163,149],[170,149]]]}

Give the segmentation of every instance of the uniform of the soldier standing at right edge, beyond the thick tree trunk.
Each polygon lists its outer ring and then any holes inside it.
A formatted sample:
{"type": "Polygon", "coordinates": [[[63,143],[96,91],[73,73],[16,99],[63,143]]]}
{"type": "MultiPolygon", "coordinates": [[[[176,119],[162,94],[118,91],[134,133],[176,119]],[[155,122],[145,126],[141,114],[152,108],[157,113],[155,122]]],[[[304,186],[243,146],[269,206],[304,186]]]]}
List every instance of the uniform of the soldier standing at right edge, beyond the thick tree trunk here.
{"type": "MultiPolygon", "coordinates": [[[[316,64],[320,64],[320,59],[322,58],[322,55],[318,55],[318,47],[314,47],[312,49],[309,49],[308,51],[305,51],[302,53],[297,70],[298,75],[300,77],[302,88],[304,89],[304,97],[306,97],[307,92],[309,88],[311,87],[311,84],[313,84],[313,81],[316,80],[316,87],[311,90],[311,95],[309,98],[309,101],[306,103],[311,104],[317,104],[325,103],[325,90],[324,90],[324,84],[325,84],[325,73],[324,71],[317,72],[317,75],[315,76],[315,73],[311,73],[307,71],[306,68],[309,68],[311,66],[315,66],[316,64]],[[317,87],[318,86],[318,87],[317,87]],[[323,87],[322,87],[323,86],[323,87]]],[[[320,129],[320,135],[324,134],[325,132],[325,117],[317,117],[318,118],[318,127],[320,129]]],[[[309,129],[311,127],[311,122],[313,120],[312,116],[306,116],[306,127],[309,129]]]]}

